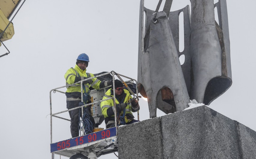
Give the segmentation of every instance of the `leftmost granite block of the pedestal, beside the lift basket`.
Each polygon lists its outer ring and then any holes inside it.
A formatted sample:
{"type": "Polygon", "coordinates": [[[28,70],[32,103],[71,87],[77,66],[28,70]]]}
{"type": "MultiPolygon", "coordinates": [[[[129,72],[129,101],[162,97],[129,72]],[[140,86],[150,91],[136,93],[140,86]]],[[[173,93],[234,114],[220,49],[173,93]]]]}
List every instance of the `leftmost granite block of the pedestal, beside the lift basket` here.
{"type": "Polygon", "coordinates": [[[119,159],[162,158],[160,117],[118,128],[119,159]]]}

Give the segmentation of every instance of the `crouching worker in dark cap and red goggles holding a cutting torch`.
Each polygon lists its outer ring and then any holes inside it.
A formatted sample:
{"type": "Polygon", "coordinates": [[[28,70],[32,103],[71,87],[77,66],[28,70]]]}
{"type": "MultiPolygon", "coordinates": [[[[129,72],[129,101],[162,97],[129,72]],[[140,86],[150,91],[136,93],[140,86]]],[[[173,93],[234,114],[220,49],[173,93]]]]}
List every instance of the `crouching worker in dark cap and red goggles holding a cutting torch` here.
{"type": "MultiPolygon", "coordinates": [[[[134,122],[139,122],[135,120],[132,112],[137,112],[139,110],[139,103],[135,99],[132,100],[130,92],[124,89],[123,83],[120,80],[115,80],[115,88],[112,87],[105,93],[102,98],[107,99],[114,96],[116,97],[116,111],[117,111],[117,125],[132,124],[134,122]]],[[[100,103],[102,114],[105,117],[106,128],[111,128],[115,126],[115,115],[114,115],[114,100],[108,99],[100,103]]]]}

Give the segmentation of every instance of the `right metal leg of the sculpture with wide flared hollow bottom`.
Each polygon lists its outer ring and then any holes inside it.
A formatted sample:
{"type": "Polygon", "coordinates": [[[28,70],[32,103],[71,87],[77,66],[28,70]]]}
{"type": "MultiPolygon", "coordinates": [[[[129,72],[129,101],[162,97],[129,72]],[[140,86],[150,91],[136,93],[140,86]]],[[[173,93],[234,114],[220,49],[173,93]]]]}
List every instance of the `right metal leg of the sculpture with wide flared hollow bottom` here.
{"type": "Polygon", "coordinates": [[[232,84],[226,0],[191,0],[191,99],[209,105],[232,84]]]}

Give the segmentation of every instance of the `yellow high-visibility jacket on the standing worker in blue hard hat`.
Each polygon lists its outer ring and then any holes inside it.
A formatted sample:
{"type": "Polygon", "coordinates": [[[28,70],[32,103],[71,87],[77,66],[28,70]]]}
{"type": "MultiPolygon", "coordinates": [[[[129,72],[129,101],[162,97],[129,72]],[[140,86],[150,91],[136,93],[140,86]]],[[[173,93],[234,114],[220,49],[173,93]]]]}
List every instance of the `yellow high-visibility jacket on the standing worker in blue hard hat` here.
{"type": "MultiPolygon", "coordinates": [[[[66,84],[74,84],[78,81],[84,80],[86,78],[94,77],[92,73],[86,73],[86,69],[83,71],[80,69],[77,65],[75,65],[75,68],[70,68],[67,70],[66,74],[64,75],[66,79],[66,84]]],[[[92,78],[91,84],[84,84],[86,93],[90,90],[90,87],[93,87],[94,89],[99,89],[99,84],[101,81],[97,78],[92,78]]],[[[84,93],[84,90],[83,90],[84,93]]],[[[81,98],[81,86],[80,83],[69,86],[66,91],[67,97],[77,97],[81,98]]]]}

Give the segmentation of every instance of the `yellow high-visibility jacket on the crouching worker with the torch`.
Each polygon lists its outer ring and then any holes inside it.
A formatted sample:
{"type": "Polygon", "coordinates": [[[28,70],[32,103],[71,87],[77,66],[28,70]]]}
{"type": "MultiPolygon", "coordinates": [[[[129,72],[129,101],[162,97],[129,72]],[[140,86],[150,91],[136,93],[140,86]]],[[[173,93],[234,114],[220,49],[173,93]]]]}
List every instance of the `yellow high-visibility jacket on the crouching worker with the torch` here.
{"type": "MultiPolygon", "coordinates": [[[[132,98],[132,96],[130,95],[130,92],[126,89],[123,90],[124,91],[124,95],[125,95],[125,98],[124,98],[124,101],[123,103],[126,104],[129,102],[129,100],[132,98]]],[[[111,88],[105,93],[105,96],[103,97],[103,99],[107,99],[107,98],[110,98],[110,97],[113,97],[113,91],[111,90],[111,88]]],[[[119,101],[116,99],[116,104],[119,104],[119,101]]],[[[114,102],[113,102],[113,99],[108,99],[106,101],[102,101],[100,103],[100,107],[101,107],[101,111],[102,111],[102,114],[104,115],[105,117],[105,123],[107,124],[109,120],[113,120],[113,117],[115,115],[111,115],[109,116],[108,113],[107,113],[107,110],[108,108],[112,108],[113,109],[113,112],[114,112],[114,102]]],[[[133,116],[133,113],[132,112],[136,112],[139,110],[139,107],[137,108],[134,108],[131,103],[129,105],[127,105],[126,107],[126,110],[125,110],[125,122],[130,122],[134,116],[133,116]],[[130,115],[128,115],[130,114],[130,115]],[[127,119],[128,117],[128,119],[127,119]]],[[[112,110],[111,110],[112,111],[112,110]]],[[[123,110],[121,111],[121,116],[123,115],[123,110]]],[[[117,114],[117,116],[119,116],[119,114],[117,114]]]]}

